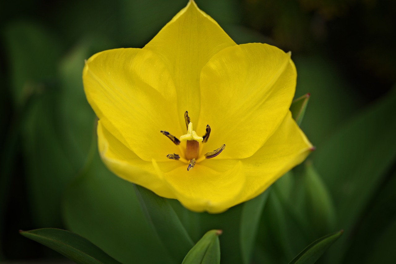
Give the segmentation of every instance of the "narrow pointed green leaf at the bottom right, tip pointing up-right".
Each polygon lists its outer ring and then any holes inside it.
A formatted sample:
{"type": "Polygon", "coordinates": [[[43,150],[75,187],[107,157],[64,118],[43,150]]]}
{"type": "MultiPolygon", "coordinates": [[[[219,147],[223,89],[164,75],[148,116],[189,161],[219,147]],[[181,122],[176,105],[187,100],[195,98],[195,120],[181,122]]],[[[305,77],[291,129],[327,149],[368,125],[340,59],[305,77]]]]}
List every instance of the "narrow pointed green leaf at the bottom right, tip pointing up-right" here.
{"type": "Polygon", "coordinates": [[[333,243],[343,234],[343,230],[321,237],[312,242],[299,255],[297,255],[289,264],[313,264],[333,245],[333,243]]]}

